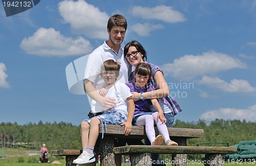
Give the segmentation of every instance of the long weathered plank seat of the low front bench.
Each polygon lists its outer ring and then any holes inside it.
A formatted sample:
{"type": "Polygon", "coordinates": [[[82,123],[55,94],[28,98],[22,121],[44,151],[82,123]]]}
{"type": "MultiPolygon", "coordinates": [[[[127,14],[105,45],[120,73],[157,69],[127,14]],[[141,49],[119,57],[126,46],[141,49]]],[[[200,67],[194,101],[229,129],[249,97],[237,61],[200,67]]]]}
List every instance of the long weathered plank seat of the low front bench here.
{"type": "Polygon", "coordinates": [[[157,153],[157,154],[229,154],[236,153],[237,147],[193,147],[193,146],[141,146],[115,147],[116,154],[157,153]]]}

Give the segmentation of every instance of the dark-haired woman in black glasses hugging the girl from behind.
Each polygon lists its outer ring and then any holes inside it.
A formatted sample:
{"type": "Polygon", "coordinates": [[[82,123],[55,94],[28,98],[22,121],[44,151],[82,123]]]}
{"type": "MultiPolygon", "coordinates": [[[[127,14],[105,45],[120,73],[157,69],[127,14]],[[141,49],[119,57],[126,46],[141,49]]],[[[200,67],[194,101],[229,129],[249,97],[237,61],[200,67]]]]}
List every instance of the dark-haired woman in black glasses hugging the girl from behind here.
{"type": "MultiPolygon", "coordinates": [[[[147,63],[146,51],[143,46],[136,40],[132,40],[124,46],[123,51],[124,57],[127,61],[133,65],[137,66],[139,63],[147,63]]],[[[162,107],[164,116],[167,120],[166,126],[170,127],[174,123],[174,115],[178,114],[180,111],[180,106],[174,100],[173,97],[169,96],[169,88],[163,77],[162,70],[152,63],[150,64],[152,68],[152,77],[150,78],[150,86],[154,88],[153,91],[137,93],[132,92],[134,101],[144,100],[144,99],[159,99],[158,102],[162,107]]],[[[129,78],[130,82],[135,82],[134,74],[132,73],[129,78]]],[[[157,111],[153,106],[152,111],[157,111]]]]}

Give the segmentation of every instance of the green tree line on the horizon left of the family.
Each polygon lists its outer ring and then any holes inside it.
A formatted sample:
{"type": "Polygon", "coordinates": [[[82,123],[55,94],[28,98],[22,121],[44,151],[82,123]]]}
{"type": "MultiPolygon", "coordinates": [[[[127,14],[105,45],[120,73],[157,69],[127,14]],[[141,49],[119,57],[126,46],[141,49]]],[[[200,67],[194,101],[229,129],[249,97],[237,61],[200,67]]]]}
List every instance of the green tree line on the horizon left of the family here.
{"type": "Polygon", "coordinates": [[[40,149],[47,145],[48,151],[57,149],[80,149],[80,126],[71,123],[1,123],[0,147],[40,149]]]}

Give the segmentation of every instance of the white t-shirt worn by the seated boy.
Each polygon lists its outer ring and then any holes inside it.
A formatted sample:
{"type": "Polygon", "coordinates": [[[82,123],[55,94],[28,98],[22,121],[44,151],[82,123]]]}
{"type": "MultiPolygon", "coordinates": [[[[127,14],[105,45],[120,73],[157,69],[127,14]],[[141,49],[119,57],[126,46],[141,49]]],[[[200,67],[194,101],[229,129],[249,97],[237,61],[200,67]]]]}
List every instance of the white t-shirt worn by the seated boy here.
{"type": "Polygon", "coordinates": [[[104,110],[99,103],[96,103],[96,110],[102,111],[121,111],[126,116],[128,115],[126,99],[132,97],[130,88],[124,83],[116,82],[111,88],[106,88],[106,96],[116,99],[116,107],[111,110],[104,110]]]}

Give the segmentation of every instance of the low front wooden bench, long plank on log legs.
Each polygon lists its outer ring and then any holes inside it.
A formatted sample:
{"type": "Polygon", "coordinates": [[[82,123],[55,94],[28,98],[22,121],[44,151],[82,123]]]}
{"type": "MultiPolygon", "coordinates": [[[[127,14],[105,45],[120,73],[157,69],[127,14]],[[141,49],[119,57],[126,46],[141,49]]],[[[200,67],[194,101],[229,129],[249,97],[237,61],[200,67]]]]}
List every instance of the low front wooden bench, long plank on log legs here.
{"type": "MultiPolygon", "coordinates": [[[[205,154],[204,161],[197,161],[205,165],[222,165],[221,154],[236,153],[237,147],[192,147],[192,146],[124,146],[115,147],[115,154],[130,154],[131,166],[150,166],[153,161],[151,154],[205,154]]],[[[155,161],[154,161],[155,162],[155,161]]],[[[191,161],[190,161],[191,162],[191,161]]],[[[196,162],[192,161],[192,162],[196,162]]],[[[155,162],[157,163],[157,162],[155,162]]],[[[162,160],[159,163],[172,163],[172,165],[186,165],[189,163],[185,158],[179,160],[162,160]]]]}

